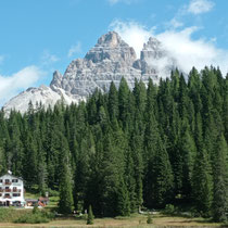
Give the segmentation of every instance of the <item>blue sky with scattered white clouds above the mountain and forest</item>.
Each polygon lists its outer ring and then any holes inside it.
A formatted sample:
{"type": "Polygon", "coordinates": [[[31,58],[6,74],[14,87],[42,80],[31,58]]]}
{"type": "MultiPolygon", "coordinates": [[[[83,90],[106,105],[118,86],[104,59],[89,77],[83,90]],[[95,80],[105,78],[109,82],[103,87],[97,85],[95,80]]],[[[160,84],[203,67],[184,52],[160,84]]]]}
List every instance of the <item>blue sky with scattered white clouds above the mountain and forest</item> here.
{"type": "Polygon", "coordinates": [[[0,0],[0,105],[49,85],[98,38],[116,30],[137,53],[160,39],[185,71],[228,69],[227,0],[0,0]]]}

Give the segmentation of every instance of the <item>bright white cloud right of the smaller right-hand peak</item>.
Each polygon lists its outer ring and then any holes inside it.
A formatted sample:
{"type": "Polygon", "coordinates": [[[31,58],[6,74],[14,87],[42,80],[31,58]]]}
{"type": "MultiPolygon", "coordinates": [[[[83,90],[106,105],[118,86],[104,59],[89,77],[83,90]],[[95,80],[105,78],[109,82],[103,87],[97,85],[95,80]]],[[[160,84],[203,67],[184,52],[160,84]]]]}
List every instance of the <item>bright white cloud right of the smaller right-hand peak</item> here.
{"type": "Polygon", "coordinates": [[[228,50],[215,47],[211,40],[192,39],[197,27],[185,28],[180,31],[166,30],[156,35],[168,52],[177,60],[178,67],[189,73],[192,66],[198,69],[205,65],[219,66],[224,74],[228,69],[228,50]]]}

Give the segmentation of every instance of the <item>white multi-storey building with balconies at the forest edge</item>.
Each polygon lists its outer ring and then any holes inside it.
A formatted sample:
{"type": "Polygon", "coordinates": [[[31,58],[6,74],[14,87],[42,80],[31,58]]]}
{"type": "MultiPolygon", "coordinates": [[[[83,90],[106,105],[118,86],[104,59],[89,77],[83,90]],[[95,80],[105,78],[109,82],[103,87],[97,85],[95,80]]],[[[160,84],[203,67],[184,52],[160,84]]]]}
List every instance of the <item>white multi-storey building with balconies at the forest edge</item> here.
{"type": "Polygon", "coordinates": [[[11,172],[0,177],[0,205],[24,205],[24,182],[11,172]]]}

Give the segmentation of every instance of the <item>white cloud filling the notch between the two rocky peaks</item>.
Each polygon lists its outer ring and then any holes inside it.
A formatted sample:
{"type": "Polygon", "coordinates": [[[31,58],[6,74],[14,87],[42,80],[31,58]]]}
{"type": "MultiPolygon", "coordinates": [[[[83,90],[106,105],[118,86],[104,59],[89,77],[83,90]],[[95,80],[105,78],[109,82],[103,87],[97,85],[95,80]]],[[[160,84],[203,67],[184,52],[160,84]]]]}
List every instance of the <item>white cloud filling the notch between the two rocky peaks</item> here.
{"type": "Polygon", "coordinates": [[[155,27],[148,29],[137,22],[122,22],[115,20],[111,25],[110,29],[118,33],[130,47],[136,51],[137,56],[140,56],[140,51],[143,48],[143,43],[148,41],[155,27]]]}

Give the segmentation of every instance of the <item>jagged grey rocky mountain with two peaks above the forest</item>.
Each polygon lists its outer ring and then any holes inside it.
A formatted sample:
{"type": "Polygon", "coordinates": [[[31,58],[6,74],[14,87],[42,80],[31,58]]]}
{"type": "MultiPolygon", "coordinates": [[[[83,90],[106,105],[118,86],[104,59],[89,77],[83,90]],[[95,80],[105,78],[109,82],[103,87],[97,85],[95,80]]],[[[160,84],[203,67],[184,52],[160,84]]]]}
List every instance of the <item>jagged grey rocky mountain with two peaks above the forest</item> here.
{"type": "Polygon", "coordinates": [[[175,66],[175,59],[157,39],[151,37],[144,43],[140,59],[137,59],[134,48],[117,33],[110,31],[99,38],[84,59],[72,61],[64,75],[55,71],[49,87],[28,88],[12,98],[3,109],[7,113],[12,109],[24,113],[29,101],[34,106],[41,102],[46,107],[53,106],[60,99],[64,99],[67,104],[77,103],[85,100],[96,88],[109,90],[111,81],[118,87],[123,76],[130,88],[134,87],[135,78],[145,84],[149,78],[159,83],[159,78],[169,76],[175,66]]]}

